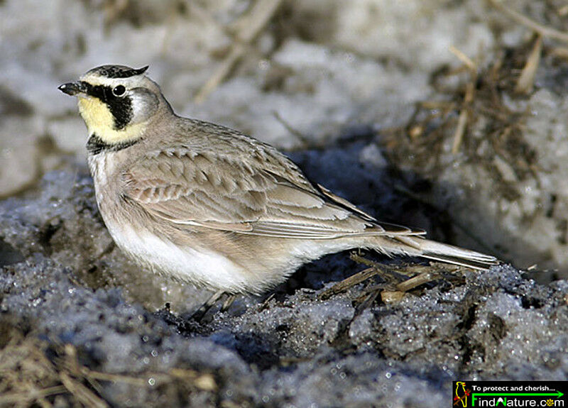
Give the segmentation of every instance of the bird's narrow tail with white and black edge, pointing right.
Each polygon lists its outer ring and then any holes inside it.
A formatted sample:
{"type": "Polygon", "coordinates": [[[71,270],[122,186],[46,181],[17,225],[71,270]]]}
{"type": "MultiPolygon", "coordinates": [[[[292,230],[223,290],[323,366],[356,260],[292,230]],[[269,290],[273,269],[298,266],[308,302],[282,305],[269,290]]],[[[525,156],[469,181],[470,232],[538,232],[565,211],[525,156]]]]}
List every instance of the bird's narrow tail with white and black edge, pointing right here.
{"type": "Polygon", "coordinates": [[[459,248],[457,246],[439,243],[421,236],[390,236],[376,237],[378,243],[376,250],[383,253],[405,253],[445,263],[461,265],[476,270],[486,270],[491,265],[497,265],[498,259],[491,255],[479,253],[474,250],[459,248]],[[389,245],[390,243],[390,245],[389,245]]]}

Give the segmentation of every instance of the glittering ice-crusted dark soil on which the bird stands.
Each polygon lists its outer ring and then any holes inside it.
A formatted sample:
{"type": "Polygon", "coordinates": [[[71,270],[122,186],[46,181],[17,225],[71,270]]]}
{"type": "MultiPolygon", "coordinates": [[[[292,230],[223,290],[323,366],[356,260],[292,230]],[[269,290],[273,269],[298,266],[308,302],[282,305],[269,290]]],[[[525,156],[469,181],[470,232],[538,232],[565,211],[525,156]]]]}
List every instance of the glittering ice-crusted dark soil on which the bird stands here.
{"type": "MultiPolygon", "coordinates": [[[[359,192],[378,175],[378,191],[399,180],[374,149],[354,143],[295,159],[310,163],[303,167],[316,181],[381,209],[397,197],[373,202],[359,192]],[[371,157],[375,165],[361,165],[371,157]],[[325,164],[339,158],[344,167],[330,172],[325,164]]],[[[391,284],[378,277],[322,296],[365,268],[342,253],[302,268],[271,296],[237,297],[195,321],[207,292],[129,264],[95,208],[90,178],[65,171],[48,173],[36,194],[0,203],[0,405],[48,389],[45,400],[60,407],[441,407],[457,378],[568,373],[565,281],[540,285],[506,265],[435,264],[425,268],[437,279],[400,302],[379,300],[391,284]]]]}

